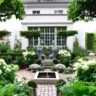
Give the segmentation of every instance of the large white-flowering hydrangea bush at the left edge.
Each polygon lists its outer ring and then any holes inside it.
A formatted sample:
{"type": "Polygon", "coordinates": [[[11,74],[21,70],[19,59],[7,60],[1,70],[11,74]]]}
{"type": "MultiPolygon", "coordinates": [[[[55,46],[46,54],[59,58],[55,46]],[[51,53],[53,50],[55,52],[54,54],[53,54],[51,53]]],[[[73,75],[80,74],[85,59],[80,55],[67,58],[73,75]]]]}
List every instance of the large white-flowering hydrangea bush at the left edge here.
{"type": "Polygon", "coordinates": [[[14,82],[15,72],[19,70],[17,65],[7,65],[3,59],[0,59],[0,80],[8,80],[14,82]]]}

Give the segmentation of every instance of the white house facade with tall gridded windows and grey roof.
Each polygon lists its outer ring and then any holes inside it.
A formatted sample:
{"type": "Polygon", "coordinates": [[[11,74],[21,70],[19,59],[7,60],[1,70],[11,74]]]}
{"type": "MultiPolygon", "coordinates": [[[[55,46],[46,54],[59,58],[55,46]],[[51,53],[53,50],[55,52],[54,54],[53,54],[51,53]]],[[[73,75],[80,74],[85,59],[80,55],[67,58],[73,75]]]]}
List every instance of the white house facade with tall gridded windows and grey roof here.
{"type": "MultiPolygon", "coordinates": [[[[38,30],[41,36],[32,38],[34,47],[65,46],[62,37],[57,36],[59,30],[72,30],[72,22],[67,19],[67,9],[71,0],[24,0],[26,15],[22,30],[38,30]]],[[[74,36],[67,38],[67,47],[72,49],[74,36]]],[[[22,48],[29,46],[28,39],[22,37],[22,48]]]]}

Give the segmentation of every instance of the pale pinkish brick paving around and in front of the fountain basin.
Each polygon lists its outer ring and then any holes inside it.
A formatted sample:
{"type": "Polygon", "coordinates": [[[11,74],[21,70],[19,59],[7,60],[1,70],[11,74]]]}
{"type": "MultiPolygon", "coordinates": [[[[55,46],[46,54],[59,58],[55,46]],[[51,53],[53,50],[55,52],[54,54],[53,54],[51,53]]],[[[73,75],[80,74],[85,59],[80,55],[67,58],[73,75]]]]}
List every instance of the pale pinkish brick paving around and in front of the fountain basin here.
{"type": "MultiPolygon", "coordinates": [[[[46,69],[44,71],[50,71],[46,69]]],[[[33,80],[35,73],[27,70],[20,70],[17,73],[17,80],[21,81],[22,78],[26,78],[26,82],[33,80]]],[[[66,80],[66,78],[74,78],[74,74],[62,74],[59,73],[60,79],[66,80]]],[[[57,96],[57,89],[53,84],[37,84],[36,96],[57,96]]]]}

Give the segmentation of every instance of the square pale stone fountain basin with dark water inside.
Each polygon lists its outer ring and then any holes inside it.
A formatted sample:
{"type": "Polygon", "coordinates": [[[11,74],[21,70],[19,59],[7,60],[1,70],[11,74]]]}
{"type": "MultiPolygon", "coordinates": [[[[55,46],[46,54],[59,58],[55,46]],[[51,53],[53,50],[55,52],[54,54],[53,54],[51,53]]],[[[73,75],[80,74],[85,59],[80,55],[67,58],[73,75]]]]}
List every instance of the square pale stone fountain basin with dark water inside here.
{"type": "Polygon", "coordinates": [[[38,71],[34,77],[34,81],[38,84],[55,84],[59,79],[58,72],[38,71]]]}

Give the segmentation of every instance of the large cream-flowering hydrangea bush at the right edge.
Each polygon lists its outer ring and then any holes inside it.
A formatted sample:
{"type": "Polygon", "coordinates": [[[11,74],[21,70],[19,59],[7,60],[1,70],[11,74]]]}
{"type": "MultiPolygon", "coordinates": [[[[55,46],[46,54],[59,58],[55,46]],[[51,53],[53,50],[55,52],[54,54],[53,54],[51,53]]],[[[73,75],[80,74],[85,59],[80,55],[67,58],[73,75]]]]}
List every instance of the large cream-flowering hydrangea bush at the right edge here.
{"type": "Polygon", "coordinates": [[[96,60],[78,59],[73,67],[79,80],[88,82],[96,81],[96,60]]]}

